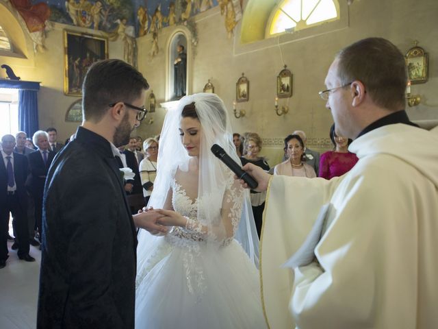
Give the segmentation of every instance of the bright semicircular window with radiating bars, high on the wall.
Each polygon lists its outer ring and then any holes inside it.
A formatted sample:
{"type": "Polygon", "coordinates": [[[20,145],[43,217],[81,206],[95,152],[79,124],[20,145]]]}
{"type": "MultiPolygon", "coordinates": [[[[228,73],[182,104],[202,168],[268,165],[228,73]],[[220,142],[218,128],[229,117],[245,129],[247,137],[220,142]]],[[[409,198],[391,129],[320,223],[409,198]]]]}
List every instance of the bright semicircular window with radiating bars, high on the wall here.
{"type": "Polygon", "coordinates": [[[337,19],[337,0],[283,0],[272,13],[268,35],[307,29],[337,19]]]}

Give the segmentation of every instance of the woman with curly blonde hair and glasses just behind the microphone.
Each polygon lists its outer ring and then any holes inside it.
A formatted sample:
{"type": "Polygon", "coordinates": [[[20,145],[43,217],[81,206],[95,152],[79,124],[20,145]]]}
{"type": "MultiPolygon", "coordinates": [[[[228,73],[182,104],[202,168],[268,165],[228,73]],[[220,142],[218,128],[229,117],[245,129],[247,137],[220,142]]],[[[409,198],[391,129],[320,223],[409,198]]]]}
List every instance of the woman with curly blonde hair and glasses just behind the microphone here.
{"type": "MultiPolygon", "coordinates": [[[[248,133],[244,141],[245,155],[240,158],[242,165],[248,162],[255,164],[261,169],[268,171],[270,169],[269,164],[265,158],[259,156],[261,150],[261,138],[255,133],[248,133]]],[[[250,191],[251,206],[253,208],[253,215],[255,220],[255,226],[257,228],[257,234],[261,233],[261,224],[263,218],[263,210],[265,209],[266,192],[250,191]]]]}

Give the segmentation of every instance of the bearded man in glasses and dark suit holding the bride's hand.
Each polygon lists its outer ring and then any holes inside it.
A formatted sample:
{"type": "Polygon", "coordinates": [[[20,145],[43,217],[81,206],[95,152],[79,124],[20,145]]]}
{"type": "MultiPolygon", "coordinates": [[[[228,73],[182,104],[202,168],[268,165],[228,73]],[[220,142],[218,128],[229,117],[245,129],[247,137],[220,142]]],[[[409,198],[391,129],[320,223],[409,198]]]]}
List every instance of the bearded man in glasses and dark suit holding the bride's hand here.
{"type": "Polygon", "coordinates": [[[83,123],[44,187],[37,328],[134,328],[136,226],[166,228],[154,212],[131,215],[115,157],[144,119],[148,88],[121,60],[86,74],[83,123]]]}

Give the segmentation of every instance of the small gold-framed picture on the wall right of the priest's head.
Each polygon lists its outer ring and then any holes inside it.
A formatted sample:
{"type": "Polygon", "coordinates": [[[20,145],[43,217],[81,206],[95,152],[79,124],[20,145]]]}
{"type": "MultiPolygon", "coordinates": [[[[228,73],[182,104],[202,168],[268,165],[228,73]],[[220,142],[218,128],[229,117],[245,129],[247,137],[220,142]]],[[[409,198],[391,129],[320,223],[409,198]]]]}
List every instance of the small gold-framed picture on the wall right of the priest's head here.
{"type": "Polygon", "coordinates": [[[428,80],[428,54],[415,42],[415,47],[409,49],[405,57],[411,84],[424,84],[428,80]]]}

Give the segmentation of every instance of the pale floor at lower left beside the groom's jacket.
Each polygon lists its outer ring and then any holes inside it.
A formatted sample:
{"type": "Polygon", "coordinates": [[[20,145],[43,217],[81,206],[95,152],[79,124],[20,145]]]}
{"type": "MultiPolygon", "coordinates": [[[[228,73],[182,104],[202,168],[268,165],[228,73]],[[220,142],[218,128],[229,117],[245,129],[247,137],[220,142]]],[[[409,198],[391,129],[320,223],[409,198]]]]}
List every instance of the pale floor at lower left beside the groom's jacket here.
{"type": "Polygon", "coordinates": [[[18,259],[11,246],[12,241],[8,241],[9,258],[6,267],[0,269],[0,328],[34,329],[41,252],[30,246],[29,254],[36,262],[27,263],[18,259]]]}

